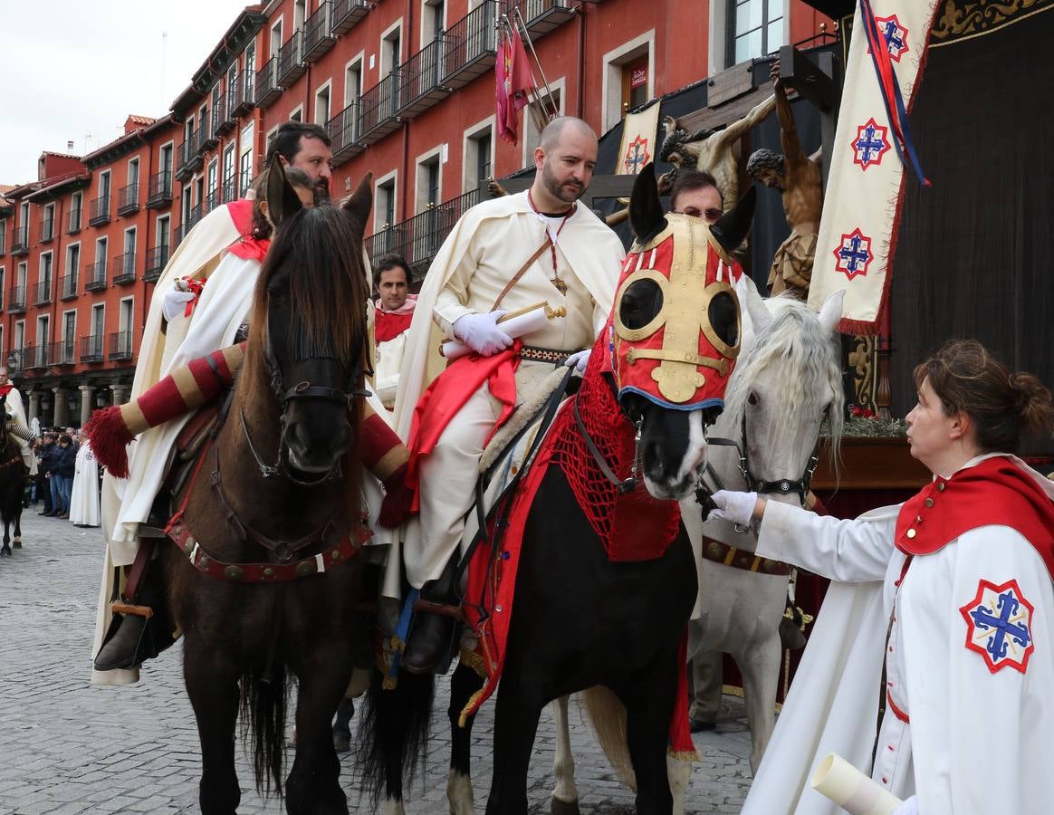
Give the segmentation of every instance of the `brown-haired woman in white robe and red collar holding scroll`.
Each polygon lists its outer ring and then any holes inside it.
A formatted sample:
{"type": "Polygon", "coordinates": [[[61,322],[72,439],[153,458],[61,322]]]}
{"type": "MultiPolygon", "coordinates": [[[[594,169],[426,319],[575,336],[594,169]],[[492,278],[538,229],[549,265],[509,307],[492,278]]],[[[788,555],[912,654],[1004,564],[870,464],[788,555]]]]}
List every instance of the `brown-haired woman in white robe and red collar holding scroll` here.
{"type": "Polygon", "coordinates": [[[832,584],[744,813],[840,812],[787,789],[827,751],[906,799],[898,814],[1054,800],[1054,483],[1014,454],[1054,431],[1051,393],[974,341],[945,344],[915,383],[907,441],[933,482],[900,506],[838,520],[714,494],[710,518],[760,521],[758,555],[882,581],[870,599],[832,584]]]}

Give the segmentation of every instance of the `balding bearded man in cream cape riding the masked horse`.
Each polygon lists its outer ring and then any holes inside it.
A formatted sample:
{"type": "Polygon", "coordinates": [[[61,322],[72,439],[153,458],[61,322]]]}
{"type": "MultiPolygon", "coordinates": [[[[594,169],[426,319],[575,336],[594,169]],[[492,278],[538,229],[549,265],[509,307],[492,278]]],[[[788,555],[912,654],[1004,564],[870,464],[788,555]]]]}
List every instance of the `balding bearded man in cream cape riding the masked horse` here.
{"type": "MultiPolygon", "coordinates": [[[[597,163],[597,135],[564,116],[542,132],[536,175],[526,192],[484,201],[455,225],[432,261],[417,300],[395,403],[396,430],[410,439],[410,483],[419,486],[419,523],[403,548],[407,578],[431,603],[455,603],[452,558],[472,503],[480,458],[516,394],[584,355],[604,328],[625,252],[610,229],[578,199],[597,163]],[[510,336],[501,321],[545,304],[564,316],[510,336]],[[442,338],[474,353],[435,373],[429,351],[442,338]],[[573,357],[578,352],[581,355],[573,357]],[[418,402],[418,397],[421,401],[418,402]]],[[[423,614],[410,630],[403,665],[434,671],[453,618],[423,614]]]]}

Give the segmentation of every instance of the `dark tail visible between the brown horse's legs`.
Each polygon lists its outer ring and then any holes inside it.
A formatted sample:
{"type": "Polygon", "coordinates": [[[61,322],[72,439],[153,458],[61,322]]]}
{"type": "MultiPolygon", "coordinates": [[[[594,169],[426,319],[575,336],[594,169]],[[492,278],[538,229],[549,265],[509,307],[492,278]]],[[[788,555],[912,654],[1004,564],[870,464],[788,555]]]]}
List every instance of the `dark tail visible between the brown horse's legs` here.
{"type": "Polygon", "coordinates": [[[289,672],[276,665],[270,674],[250,671],[239,680],[241,687],[242,739],[252,739],[256,790],[270,794],[271,784],[281,795],[282,754],[286,740],[286,709],[289,672]]]}

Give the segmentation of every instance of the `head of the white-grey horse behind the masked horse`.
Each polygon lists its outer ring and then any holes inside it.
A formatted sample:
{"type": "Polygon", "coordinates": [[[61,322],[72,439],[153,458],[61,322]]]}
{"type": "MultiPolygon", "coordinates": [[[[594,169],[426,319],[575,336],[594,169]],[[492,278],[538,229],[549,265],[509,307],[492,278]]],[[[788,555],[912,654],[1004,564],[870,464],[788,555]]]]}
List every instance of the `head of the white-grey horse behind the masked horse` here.
{"type": "Polygon", "coordinates": [[[844,396],[835,326],[843,292],[831,294],[817,314],[794,297],[764,300],[749,283],[739,291],[747,341],[728,384],[721,429],[739,442],[747,489],[799,503],[808,491],[824,421],[833,457],[841,436],[844,396]]]}

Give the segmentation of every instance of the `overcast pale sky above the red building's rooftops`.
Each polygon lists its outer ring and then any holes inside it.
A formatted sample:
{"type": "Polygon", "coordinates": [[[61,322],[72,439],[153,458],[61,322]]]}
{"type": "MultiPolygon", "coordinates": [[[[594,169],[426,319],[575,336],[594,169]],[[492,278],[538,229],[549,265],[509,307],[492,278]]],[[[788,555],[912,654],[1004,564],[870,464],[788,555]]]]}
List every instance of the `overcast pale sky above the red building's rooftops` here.
{"type": "Polygon", "coordinates": [[[130,113],[167,114],[249,4],[0,0],[0,183],[36,180],[44,150],[84,155],[112,141],[130,113]]]}

